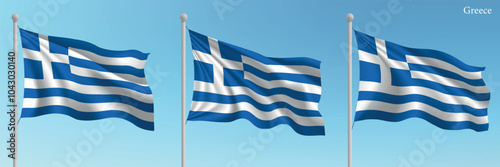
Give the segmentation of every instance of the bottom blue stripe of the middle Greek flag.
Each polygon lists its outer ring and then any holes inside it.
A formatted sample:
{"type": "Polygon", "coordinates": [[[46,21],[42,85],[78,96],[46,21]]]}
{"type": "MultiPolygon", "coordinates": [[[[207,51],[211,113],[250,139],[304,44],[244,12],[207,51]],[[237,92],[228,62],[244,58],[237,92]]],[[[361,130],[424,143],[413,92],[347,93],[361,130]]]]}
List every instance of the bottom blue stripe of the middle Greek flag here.
{"type": "Polygon", "coordinates": [[[260,120],[248,111],[238,111],[231,114],[191,111],[188,116],[188,120],[190,121],[232,122],[237,119],[246,119],[261,129],[270,129],[280,124],[287,124],[291,126],[295,132],[301,135],[325,135],[324,126],[302,126],[286,116],[281,116],[270,121],[260,120]]]}

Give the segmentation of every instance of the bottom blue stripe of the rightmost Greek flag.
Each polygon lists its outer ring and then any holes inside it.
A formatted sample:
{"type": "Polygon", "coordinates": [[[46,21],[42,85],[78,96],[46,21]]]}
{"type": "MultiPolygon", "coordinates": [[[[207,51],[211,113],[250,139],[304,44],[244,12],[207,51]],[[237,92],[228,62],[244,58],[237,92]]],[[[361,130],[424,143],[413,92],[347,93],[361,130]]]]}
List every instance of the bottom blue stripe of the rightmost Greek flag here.
{"type": "Polygon", "coordinates": [[[390,122],[400,122],[408,118],[422,118],[437,127],[447,130],[472,129],[477,132],[487,131],[489,124],[475,124],[470,121],[450,122],[439,119],[429,113],[420,110],[410,110],[403,113],[388,113],[384,111],[363,110],[356,111],[354,121],[378,119],[390,122]]]}

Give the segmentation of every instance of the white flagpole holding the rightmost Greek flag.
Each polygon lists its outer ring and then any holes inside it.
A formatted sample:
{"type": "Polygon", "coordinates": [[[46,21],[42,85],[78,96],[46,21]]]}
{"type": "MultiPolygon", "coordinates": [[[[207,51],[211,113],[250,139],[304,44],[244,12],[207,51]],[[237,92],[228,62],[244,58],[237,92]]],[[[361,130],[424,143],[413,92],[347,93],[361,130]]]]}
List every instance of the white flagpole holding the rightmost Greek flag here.
{"type": "Polygon", "coordinates": [[[348,81],[347,81],[347,136],[348,136],[348,148],[347,148],[347,165],[348,167],[352,167],[352,20],[354,16],[352,14],[347,14],[347,53],[348,53],[348,81]]]}

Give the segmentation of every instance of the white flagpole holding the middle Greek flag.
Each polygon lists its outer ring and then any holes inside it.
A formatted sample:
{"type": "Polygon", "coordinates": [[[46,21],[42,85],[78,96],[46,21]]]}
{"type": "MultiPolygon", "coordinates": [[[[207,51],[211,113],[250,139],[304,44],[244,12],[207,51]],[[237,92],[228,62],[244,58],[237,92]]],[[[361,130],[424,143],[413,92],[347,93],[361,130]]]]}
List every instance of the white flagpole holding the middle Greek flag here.
{"type": "Polygon", "coordinates": [[[186,20],[187,15],[181,14],[182,22],[182,167],[186,167],[186,20]]]}

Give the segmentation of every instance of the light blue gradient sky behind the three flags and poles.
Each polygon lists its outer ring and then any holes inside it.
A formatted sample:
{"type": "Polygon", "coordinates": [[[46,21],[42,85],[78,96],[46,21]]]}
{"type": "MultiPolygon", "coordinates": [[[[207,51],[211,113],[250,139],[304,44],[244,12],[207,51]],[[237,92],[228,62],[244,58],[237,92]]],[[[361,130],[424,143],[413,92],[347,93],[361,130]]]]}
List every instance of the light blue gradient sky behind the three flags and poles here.
{"type": "MultiPolygon", "coordinates": [[[[187,26],[207,36],[269,57],[321,60],[320,112],[326,127],[326,136],[308,137],[296,134],[286,125],[261,130],[246,120],[188,122],[188,167],[347,166],[345,16],[353,13],[354,27],[369,35],[408,47],[437,49],[467,64],[487,67],[483,78],[492,94],[487,132],[445,131],[416,118],[398,123],[357,122],[353,131],[353,166],[400,167],[405,160],[410,161],[411,166],[426,167],[499,166],[500,2],[400,0],[396,1],[399,11],[391,13],[388,21],[378,20],[371,13],[387,12],[391,1],[3,0],[0,51],[4,58],[0,64],[6,71],[6,55],[12,50],[13,13],[21,16],[20,27],[41,34],[80,39],[112,50],[150,52],[146,72],[154,94],[156,130],[145,131],[122,119],[106,119],[111,121],[113,131],[104,134],[101,143],[92,145],[92,152],[82,157],[79,166],[180,166],[179,15],[186,13],[187,26]],[[56,2],[57,11],[47,12],[40,5],[45,2],[56,2]],[[217,2],[228,5],[231,10],[220,17],[214,8],[217,2]],[[465,6],[492,8],[493,14],[465,15],[465,6]],[[444,142],[434,141],[435,149],[423,152],[416,141],[432,140],[433,133],[442,133],[444,142]],[[250,144],[253,138],[259,142],[258,146],[250,144]]],[[[193,63],[189,37],[187,41],[186,108],[189,109],[193,63]]],[[[19,43],[21,51],[20,48],[19,43]]],[[[354,51],[356,99],[359,76],[356,46],[354,51]]],[[[22,67],[21,61],[19,68],[22,67]]],[[[0,78],[3,96],[6,96],[6,72],[1,72],[0,78]]],[[[21,80],[19,86],[22,85],[21,80]]],[[[7,100],[2,99],[2,107],[5,107],[7,100]]],[[[0,142],[3,143],[0,166],[12,165],[5,150],[8,119],[7,114],[0,114],[0,140],[4,141],[0,142]]],[[[76,149],[79,143],[88,142],[83,131],[96,130],[101,122],[78,121],[58,114],[23,119],[19,126],[19,167],[56,167],[55,163],[69,167],[67,148],[76,149]]]]}

